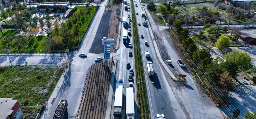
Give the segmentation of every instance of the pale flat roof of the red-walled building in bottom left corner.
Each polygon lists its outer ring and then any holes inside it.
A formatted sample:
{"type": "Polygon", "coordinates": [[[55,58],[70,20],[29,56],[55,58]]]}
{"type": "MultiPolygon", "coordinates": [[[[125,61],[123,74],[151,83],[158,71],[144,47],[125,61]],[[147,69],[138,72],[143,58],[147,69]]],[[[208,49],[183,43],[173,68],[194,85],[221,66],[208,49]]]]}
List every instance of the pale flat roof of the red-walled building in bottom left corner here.
{"type": "Polygon", "coordinates": [[[12,114],[11,110],[18,100],[12,100],[12,98],[0,98],[0,117],[6,118],[12,114]]]}

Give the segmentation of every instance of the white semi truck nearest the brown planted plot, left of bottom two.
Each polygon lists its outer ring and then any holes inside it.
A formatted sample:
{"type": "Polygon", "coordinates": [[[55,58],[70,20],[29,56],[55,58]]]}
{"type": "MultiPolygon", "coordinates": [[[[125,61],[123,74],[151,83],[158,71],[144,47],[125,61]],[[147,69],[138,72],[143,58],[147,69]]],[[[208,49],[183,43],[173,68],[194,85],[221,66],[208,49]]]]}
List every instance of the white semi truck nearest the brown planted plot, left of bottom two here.
{"type": "Polygon", "coordinates": [[[121,117],[123,110],[123,83],[116,83],[115,102],[114,102],[114,117],[121,117]]]}

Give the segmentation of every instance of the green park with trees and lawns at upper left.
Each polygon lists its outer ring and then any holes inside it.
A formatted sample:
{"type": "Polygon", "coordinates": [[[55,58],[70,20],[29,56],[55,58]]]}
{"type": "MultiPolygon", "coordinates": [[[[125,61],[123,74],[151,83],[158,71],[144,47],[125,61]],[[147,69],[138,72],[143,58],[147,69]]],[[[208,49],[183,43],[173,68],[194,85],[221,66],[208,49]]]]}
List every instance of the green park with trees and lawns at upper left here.
{"type": "MultiPolygon", "coordinates": [[[[49,9],[49,8],[48,8],[49,9]]],[[[95,10],[94,6],[77,6],[76,11],[63,23],[61,17],[49,15],[50,10],[40,11],[46,14],[42,18],[33,17],[37,9],[27,9],[26,4],[12,3],[12,7],[7,5],[5,10],[1,11],[1,17],[11,19],[5,21],[5,25],[0,25],[0,49],[11,52],[39,52],[39,50],[56,51],[61,49],[74,49],[80,43],[85,31],[87,30],[95,10]],[[56,19],[57,21],[53,21],[56,19]],[[37,22],[40,25],[37,25],[37,22]],[[47,36],[39,36],[41,28],[47,27],[47,36]],[[20,29],[20,30],[5,30],[20,29]],[[33,50],[33,51],[32,51],[33,50]]],[[[54,13],[64,12],[60,8],[54,13]]],[[[44,29],[46,30],[46,29],[44,29]]]]}

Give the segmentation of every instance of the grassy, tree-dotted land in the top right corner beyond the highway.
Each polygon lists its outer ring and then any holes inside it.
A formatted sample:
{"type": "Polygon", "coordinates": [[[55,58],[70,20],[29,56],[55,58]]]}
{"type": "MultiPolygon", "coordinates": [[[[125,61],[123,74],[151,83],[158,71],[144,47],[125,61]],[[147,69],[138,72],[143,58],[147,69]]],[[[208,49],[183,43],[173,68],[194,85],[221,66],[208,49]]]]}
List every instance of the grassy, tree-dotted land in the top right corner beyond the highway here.
{"type": "MultiPolygon", "coordinates": [[[[254,10],[256,2],[231,2],[229,5],[222,0],[214,3],[199,3],[186,5],[171,5],[163,3],[158,5],[166,20],[172,24],[176,19],[181,19],[184,25],[188,24],[218,24],[218,23],[256,23],[254,10]]],[[[156,11],[156,13],[160,13],[156,11]]]]}

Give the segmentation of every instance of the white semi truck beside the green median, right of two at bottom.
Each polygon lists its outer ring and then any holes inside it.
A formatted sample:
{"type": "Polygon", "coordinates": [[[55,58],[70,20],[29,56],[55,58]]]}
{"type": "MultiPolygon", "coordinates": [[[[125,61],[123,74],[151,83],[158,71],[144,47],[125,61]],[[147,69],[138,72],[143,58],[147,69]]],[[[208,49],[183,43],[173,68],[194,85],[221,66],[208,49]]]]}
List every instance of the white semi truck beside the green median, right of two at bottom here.
{"type": "Polygon", "coordinates": [[[126,88],[126,117],[127,119],[134,119],[133,88],[126,88]]]}

